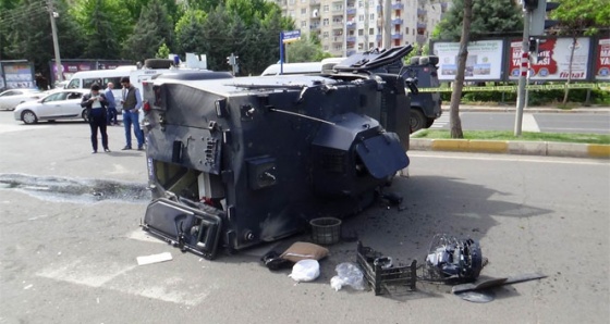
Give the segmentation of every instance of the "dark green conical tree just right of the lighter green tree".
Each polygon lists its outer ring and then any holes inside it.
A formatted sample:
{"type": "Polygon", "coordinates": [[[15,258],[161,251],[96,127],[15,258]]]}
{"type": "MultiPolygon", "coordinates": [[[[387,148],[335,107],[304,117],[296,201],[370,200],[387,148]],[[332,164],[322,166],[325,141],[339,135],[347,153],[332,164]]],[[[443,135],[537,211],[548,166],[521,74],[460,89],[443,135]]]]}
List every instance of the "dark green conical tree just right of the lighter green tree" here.
{"type": "Polygon", "coordinates": [[[154,58],[162,43],[172,48],[172,34],[173,23],[166,5],[161,0],[151,0],[142,9],[139,20],[124,43],[124,54],[134,61],[154,58]]]}

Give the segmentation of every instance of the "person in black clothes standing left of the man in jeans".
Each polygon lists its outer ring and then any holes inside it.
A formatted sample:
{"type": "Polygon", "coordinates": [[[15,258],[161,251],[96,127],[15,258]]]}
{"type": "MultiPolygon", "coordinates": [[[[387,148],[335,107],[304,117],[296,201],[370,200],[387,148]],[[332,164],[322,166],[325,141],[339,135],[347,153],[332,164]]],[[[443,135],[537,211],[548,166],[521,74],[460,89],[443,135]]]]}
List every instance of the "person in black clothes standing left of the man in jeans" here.
{"type": "Polygon", "coordinates": [[[91,146],[93,152],[97,153],[97,129],[101,133],[101,145],[103,151],[110,152],[108,149],[108,134],[106,134],[106,96],[99,92],[99,86],[94,84],[91,91],[83,96],[81,107],[88,110],[89,127],[91,128],[91,146]]]}

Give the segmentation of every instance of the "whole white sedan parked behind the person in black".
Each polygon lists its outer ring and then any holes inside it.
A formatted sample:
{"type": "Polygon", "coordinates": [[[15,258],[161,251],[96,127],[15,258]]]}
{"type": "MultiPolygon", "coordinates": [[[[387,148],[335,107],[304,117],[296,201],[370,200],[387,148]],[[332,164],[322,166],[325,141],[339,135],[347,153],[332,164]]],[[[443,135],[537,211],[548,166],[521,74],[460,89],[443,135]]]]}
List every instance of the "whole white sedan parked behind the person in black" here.
{"type": "Polygon", "coordinates": [[[88,89],[63,89],[51,91],[37,101],[20,103],[14,111],[15,121],[22,121],[25,124],[74,119],[86,121],[87,114],[81,107],[81,100],[88,92],[88,89]]]}

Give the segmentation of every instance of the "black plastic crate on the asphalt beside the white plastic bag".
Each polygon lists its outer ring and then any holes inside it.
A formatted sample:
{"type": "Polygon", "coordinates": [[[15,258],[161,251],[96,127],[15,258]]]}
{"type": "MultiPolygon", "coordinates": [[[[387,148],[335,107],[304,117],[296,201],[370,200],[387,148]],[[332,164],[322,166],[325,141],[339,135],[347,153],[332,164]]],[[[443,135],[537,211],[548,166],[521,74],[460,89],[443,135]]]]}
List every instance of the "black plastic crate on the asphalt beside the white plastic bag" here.
{"type": "Polygon", "coordinates": [[[375,295],[401,295],[415,290],[417,261],[411,265],[394,266],[389,257],[358,241],[356,261],[375,295]],[[383,267],[385,266],[385,267],[383,267]]]}

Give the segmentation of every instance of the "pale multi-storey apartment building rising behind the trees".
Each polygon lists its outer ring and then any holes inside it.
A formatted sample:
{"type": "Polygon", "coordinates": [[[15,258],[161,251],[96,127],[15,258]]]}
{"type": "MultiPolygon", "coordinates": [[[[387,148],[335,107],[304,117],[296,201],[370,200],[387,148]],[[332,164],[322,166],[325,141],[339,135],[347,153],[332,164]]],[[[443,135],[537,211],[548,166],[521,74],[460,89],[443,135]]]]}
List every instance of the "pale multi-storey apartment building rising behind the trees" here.
{"type": "Polygon", "coordinates": [[[383,47],[390,25],[390,45],[427,43],[448,9],[443,0],[274,0],[302,35],[316,34],[322,50],[333,57],[383,47]],[[383,17],[389,2],[390,16],[383,17]]]}

